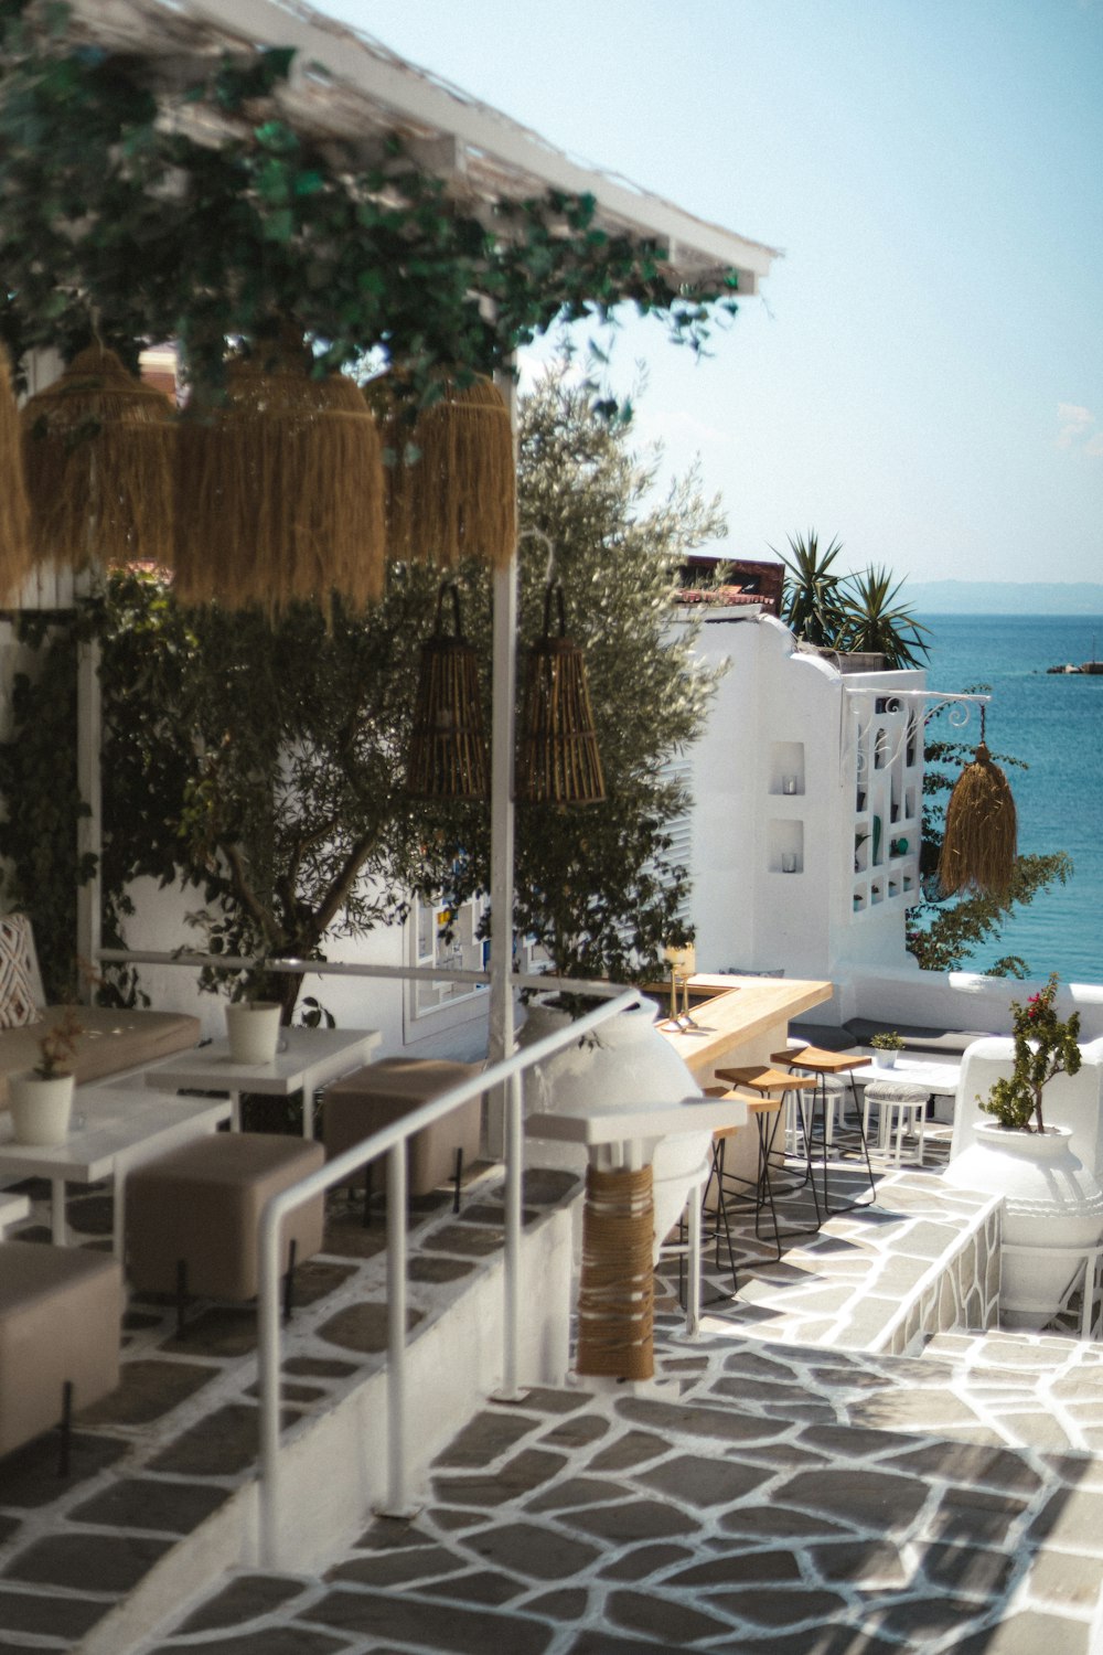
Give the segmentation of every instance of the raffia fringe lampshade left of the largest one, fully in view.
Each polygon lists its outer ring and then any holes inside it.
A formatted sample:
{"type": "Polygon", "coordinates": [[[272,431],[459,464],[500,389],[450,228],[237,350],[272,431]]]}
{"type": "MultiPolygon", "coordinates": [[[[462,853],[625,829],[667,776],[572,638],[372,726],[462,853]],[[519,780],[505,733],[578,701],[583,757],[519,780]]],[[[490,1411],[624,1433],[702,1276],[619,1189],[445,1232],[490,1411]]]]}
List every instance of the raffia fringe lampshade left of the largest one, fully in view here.
{"type": "Polygon", "coordinates": [[[84,569],[172,556],[174,409],[91,344],[21,414],[31,553],[84,569]]]}

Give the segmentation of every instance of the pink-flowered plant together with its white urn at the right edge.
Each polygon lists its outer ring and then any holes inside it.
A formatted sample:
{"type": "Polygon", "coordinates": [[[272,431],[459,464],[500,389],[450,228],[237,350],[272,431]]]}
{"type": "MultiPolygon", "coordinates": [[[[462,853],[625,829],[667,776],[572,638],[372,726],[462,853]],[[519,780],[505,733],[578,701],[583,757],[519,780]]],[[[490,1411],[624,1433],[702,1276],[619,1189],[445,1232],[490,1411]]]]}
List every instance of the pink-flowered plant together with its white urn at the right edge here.
{"type": "Polygon", "coordinates": [[[1043,1327],[1103,1235],[1103,1188],[1070,1145],[1070,1127],[1047,1125],[1045,1087],[1080,1071],[1080,1013],[1062,1021],[1057,973],[1025,1005],[1012,1001],[1014,1056],[981,1109],[994,1115],[946,1168],[953,1185],[1004,1197],[1000,1311],[1043,1327]]]}

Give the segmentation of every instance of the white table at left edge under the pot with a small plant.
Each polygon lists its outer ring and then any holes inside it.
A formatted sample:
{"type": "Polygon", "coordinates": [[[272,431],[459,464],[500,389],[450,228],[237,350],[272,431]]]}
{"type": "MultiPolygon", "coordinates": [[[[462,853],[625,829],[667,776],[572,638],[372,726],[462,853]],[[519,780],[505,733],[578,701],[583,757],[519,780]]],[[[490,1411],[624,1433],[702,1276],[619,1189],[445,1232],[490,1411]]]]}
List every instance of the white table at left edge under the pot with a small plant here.
{"type": "Polygon", "coordinates": [[[122,1258],[122,1203],[131,1167],[205,1132],[215,1132],[228,1119],[227,1099],[169,1097],[122,1086],[79,1086],[73,1099],[73,1129],[64,1144],[17,1144],[12,1137],[12,1117],[0,1115],[0,1173],[50,1180],[55,1246],[68,1245],[66,1183],[112,1178],[111,1245],[116,1258],[122,1258]]]}

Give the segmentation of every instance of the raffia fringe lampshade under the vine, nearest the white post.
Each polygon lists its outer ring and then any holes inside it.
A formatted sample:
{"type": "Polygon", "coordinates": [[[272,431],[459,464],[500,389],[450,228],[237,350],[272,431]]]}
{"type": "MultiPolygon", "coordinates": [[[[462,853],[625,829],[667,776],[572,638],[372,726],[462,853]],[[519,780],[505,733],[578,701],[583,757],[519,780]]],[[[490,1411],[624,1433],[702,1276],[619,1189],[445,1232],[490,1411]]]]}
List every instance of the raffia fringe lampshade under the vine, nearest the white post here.
{"type": "Polygon", "coordinates": [[[389,450],[387,549],[402,563],[455,568],[461,558],[504,568],[518,536],[509,409],[493,379],[445,381],[410,424],[389,376],[372,381],[389,450]]]}

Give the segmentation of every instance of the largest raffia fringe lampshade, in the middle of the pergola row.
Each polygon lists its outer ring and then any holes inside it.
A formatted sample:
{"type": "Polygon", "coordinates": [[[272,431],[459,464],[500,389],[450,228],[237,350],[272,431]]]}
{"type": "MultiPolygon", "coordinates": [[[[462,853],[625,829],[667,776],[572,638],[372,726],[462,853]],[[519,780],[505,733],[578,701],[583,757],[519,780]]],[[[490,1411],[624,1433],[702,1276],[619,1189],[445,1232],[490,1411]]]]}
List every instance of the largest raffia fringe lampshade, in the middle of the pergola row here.
{"type": "Polygon", "coordinates": [[[278,612],[341,592],[362,609],[384,569],[382,447],[359,386],[314,377],[299,339],[233,362],[225,405],[180,425],[180,601],[278,612]]]}

